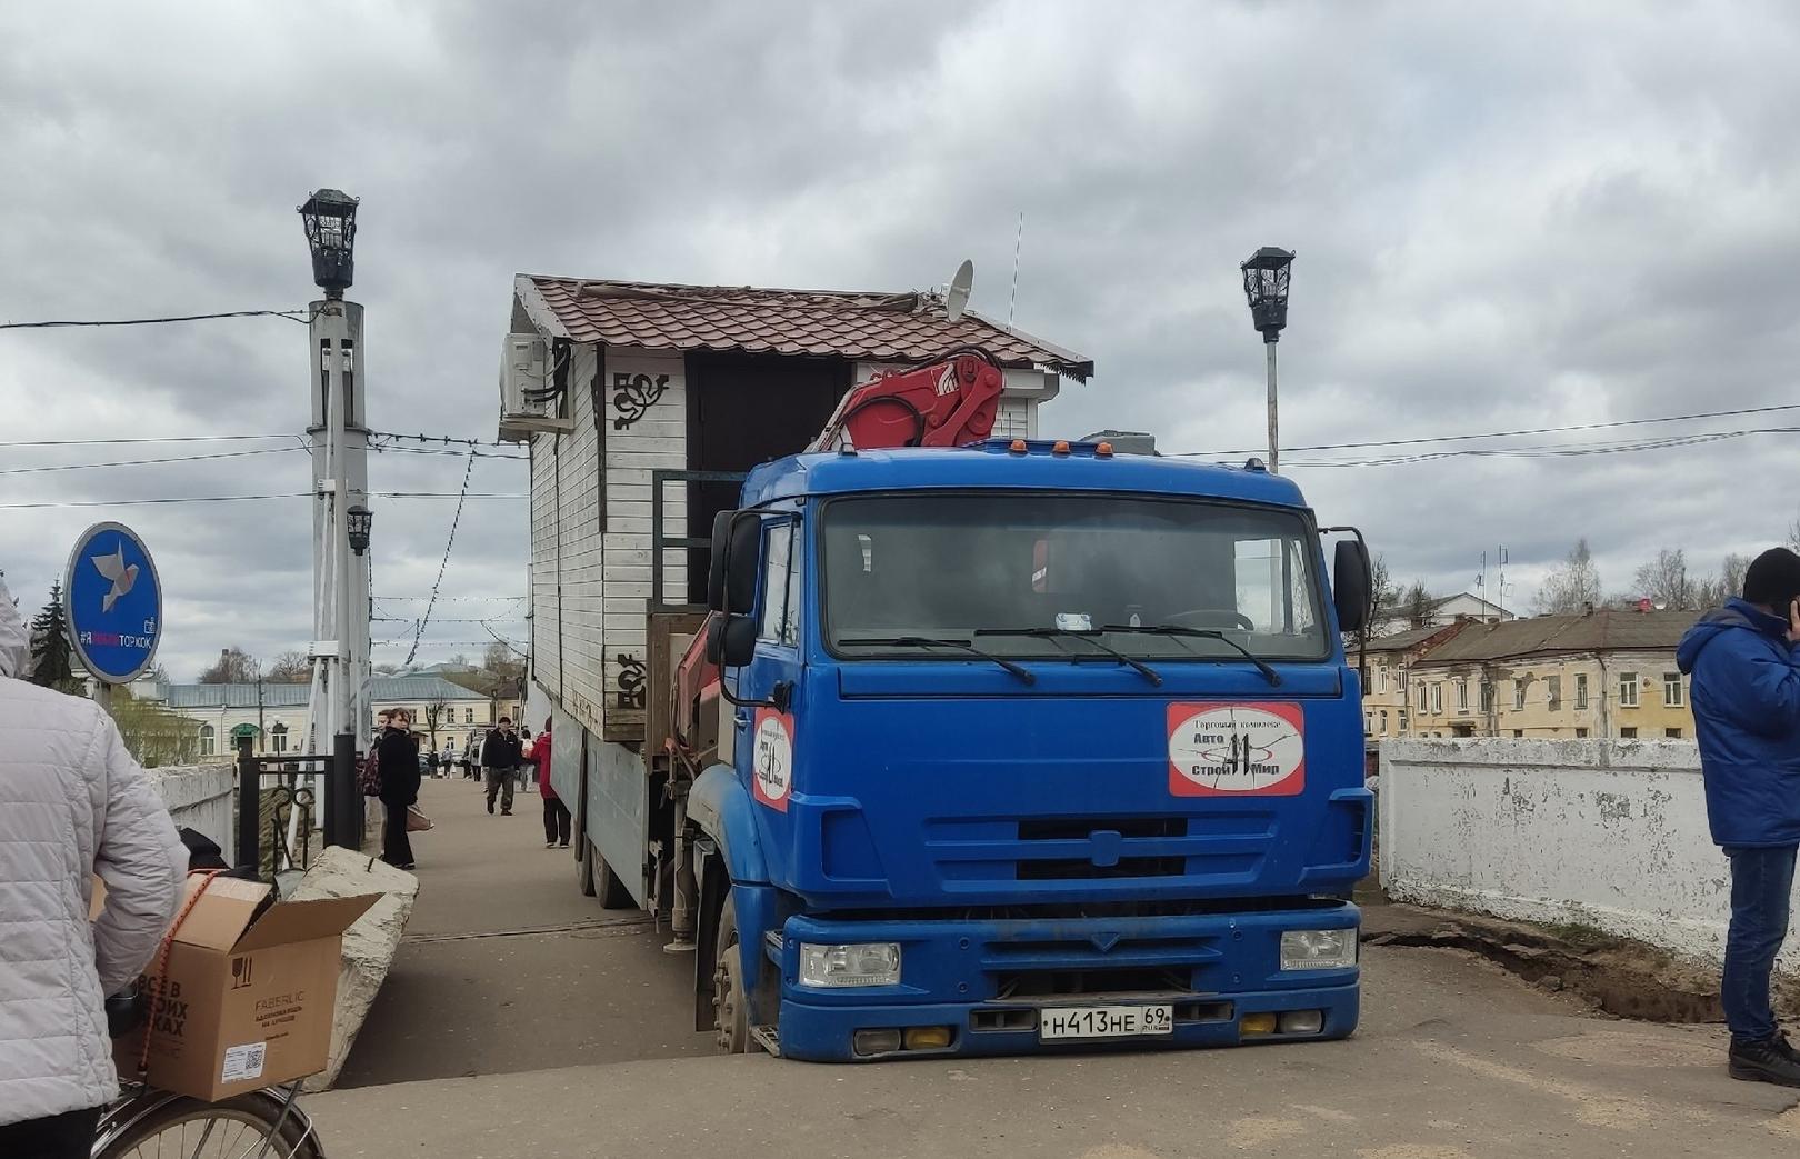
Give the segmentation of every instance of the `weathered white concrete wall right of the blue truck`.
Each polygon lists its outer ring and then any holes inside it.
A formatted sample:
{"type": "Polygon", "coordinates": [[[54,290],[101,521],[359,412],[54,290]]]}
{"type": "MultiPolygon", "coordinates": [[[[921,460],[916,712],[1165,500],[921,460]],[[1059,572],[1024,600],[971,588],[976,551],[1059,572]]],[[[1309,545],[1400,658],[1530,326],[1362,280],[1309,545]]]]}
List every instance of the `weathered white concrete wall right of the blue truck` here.
{"type": "MultiPolygon", "coordinates": [[[[1382,741],[1379,808],[1381,884],[1397,902],[1723,957],[1730,862],[1692,741],[1382,741]]],[[[1782,963],[1800,968],[1800,936],[1782,963]]]]}

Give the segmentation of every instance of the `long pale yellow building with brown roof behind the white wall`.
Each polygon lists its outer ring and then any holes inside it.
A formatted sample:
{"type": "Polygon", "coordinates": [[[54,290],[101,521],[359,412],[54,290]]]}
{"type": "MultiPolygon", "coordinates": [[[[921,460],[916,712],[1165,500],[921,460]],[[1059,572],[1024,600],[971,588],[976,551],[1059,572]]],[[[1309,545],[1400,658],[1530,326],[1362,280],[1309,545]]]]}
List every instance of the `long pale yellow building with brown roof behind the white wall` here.
{"type": "Polygon", "coordinates": [[[1676,644],[1694,621],[1602,608],[1472,624],[1411,664],[1406,736],[1688,740],[1676,644]]]}

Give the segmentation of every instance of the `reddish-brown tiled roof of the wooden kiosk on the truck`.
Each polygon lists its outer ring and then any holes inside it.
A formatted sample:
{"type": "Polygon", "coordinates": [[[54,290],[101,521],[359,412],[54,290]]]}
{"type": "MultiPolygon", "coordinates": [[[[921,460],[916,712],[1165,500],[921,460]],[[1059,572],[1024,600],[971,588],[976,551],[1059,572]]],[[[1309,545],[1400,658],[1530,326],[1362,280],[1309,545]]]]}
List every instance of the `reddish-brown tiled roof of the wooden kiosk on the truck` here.
{"type": "Polygon", "coordinates": [[[979,346],[1013,369],[1044,367],[1076,382],[1094,362],[965,311],[952,322],[925,292],[765,290],[585,281],[520,274],[518,304],[553,337],[666,351],[812,355],[916,362],[979,346]]]}

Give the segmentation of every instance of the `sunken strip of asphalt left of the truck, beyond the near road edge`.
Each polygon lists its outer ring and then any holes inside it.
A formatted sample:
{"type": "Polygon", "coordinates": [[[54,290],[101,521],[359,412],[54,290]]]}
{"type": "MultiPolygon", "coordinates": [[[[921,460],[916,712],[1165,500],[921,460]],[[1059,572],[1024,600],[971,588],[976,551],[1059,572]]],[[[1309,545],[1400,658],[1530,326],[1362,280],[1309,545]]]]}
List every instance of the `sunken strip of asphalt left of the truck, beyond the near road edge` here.
{"type": "Polygon", "coordinates": [[[419,900],[338,1087],[711,1053],[686,1029],[691,959],[581,896],[536,788],[502,817],[475,781],[428,779],[419,808],[419,900]]]}

